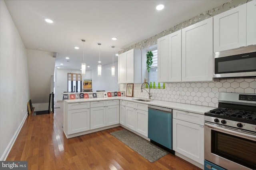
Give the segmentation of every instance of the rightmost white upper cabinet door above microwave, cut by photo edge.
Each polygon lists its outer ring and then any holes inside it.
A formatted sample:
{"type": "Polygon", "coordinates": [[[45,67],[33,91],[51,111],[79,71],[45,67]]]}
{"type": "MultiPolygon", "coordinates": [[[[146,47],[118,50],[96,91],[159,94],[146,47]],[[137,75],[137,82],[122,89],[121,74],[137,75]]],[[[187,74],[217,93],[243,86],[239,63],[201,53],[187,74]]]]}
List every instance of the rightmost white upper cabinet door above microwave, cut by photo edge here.
{"type": "Polygon", "coordinates": [[[246,45],[256,44],[256,0],[246,4],[246,45]]]}

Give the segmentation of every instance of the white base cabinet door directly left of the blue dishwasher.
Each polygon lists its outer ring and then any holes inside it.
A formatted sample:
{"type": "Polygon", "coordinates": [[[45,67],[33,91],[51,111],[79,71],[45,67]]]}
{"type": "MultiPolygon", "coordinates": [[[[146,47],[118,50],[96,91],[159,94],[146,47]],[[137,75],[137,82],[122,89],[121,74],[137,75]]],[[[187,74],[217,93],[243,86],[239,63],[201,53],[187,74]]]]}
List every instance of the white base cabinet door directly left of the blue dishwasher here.
{"type": "Polygon", "coordinates": [[[136,109],[136,131],[148,137],[148,111],[136,109]]]}

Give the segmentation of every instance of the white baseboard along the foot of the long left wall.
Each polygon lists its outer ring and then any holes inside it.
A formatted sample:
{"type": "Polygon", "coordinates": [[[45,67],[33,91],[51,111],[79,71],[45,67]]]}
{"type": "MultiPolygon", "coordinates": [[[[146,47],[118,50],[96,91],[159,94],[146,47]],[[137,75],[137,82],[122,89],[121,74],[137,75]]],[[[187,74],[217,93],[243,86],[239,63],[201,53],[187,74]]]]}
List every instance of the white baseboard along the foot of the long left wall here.
{"type": "Polygon", "coordinates": [[[9,142],[8,146],[6,147],[6,149],[4,150],[4,153],[2,154],[1,158],[0,158],[0,161],[5,161],[10,150],[12,149],[12,146],[14,145],[14,142],[16,141],[19,133],[20,133],[20,130],[26,120],[26,118],[28,117],[28,112],[26,112],[26,114],[24,115],[23,119],[22,119],[22,122],[20,123],[18,129],[16,130],[16,132],[14,133],[11,141],[9,142]]]}

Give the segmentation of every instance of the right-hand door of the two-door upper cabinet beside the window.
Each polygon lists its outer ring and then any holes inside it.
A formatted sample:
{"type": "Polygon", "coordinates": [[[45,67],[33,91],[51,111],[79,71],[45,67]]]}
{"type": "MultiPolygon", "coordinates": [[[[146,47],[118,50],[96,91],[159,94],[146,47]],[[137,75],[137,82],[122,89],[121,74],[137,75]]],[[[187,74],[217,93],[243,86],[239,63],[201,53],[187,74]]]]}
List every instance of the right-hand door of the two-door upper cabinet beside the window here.
{"type": "Polygon", "coordinates": [[[168,35],[168,82],[181,82],[181,30],[168,35]]]}

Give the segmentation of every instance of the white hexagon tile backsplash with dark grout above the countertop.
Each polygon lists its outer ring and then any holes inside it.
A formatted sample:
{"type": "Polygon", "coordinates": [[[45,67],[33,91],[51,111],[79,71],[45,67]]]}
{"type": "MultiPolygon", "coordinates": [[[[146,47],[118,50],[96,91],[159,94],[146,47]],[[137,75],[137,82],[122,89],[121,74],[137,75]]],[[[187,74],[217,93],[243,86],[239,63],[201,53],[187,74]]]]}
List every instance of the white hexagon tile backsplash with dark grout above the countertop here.
{"type": "MultiPolygon", "coordinates": [[[[151,89],[152,99],[218,107],[218,92],[254,93],[256,78],[216,79],[214,82],[166,83],[165,89],[151,89]]],[[[133,96],[148,98],[148,93],[140,92],[141,84],[134,84],[133,96]]],[[[126,84],[119,84],[126,91],[126,84]]],[[[148,90],[148,89],[147,89],[148,90]]]]}

